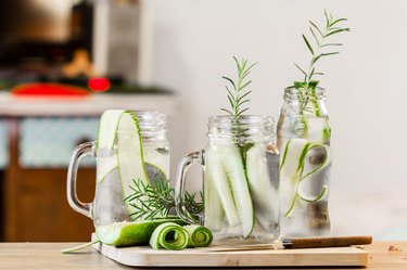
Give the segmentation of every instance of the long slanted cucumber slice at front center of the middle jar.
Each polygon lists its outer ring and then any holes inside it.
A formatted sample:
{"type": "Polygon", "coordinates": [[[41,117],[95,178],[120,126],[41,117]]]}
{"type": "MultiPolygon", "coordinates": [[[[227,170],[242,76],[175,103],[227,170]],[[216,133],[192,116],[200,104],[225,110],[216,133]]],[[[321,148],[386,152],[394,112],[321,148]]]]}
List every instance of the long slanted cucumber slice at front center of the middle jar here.
{"type": "Polygon", "coordinates": [[[220,162],[229,179],[239,222],[242,228],[242,236],[246,239],[253,231],[254,210],[244,172],[243,159],[239,147],[234,144],[218,147],[220,162]]]}

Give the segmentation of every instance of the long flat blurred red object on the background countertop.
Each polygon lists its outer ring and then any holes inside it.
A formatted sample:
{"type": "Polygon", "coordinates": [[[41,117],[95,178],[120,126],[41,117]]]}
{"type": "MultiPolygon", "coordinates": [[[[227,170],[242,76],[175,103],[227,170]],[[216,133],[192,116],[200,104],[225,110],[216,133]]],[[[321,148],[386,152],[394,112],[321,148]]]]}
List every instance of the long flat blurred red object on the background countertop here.
{"type": "Polygon", "coordinates": [[[89,91],[85,88],[50,82],[29,82],[14,87],[11,90],[13,95],[20,97],[84,97],[89,91]]]}

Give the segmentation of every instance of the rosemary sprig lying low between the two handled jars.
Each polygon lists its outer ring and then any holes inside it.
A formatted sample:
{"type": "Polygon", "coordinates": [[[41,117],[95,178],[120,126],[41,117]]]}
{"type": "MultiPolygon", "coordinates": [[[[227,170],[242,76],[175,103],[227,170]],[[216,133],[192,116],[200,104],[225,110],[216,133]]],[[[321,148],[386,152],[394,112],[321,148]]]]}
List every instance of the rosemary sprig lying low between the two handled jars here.
{"type": "MultiPolygon", "coordinates": [[[[143,181],[132,180],[131,195],[125,198],[135,208],[130,214],[132,219],[154,219],[167,217],[175,208],[174,189],[169,180],[156,179],[154,185],[145,184],[143,181]]],[[[202,194],[201,201],[196,202],[195,193],[185,194],[185,205],[191,215],[198,215],[203,210],[202,194]]]]}

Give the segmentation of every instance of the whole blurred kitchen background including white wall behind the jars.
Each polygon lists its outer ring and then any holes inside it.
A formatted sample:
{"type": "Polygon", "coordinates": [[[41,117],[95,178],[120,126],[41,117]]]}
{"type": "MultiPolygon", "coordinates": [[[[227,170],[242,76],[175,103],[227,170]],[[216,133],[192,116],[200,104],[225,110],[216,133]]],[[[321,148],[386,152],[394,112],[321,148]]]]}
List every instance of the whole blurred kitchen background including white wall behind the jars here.
{"type": "MultiPolygon", "coordinates": [[[[232,55],[258,62],[249,113],[277,119],[283,89],[301,79],[293,63],[309,59],[301,35],[323,9],[352,28],[320,62],[332,234],[407,240],[406,1],[14,0],[0,2],[0,241],[89,239],[91,221],[66,202],[66,167],[106,108],[168,115],[173,180],[227,105],[232,55]]],[[[191,177],[198,190],[200,168],[191,177]]],[[[91,158],[78,182],[91,201],[91,158]]]]}

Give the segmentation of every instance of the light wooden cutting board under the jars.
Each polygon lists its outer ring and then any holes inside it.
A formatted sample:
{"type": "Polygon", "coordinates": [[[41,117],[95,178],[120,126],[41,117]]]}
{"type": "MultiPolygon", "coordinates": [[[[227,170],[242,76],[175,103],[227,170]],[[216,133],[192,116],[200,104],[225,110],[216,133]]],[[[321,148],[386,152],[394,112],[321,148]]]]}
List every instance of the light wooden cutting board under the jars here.
{"type": "MultiPolygon", "coordinates": [[[[366,267],[369,253],[356,247],[211,252],[211,248],[155,250],[149,246],[93,247],[131,267],[366,267]]],[[[216,247],[213,247],[216,248],[216,247]]]]}

